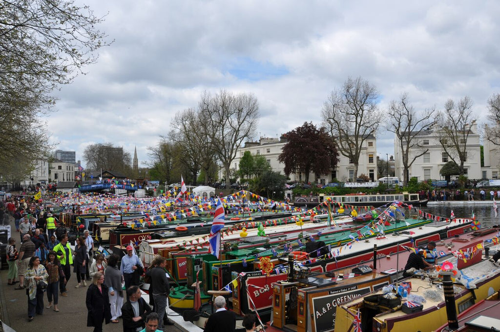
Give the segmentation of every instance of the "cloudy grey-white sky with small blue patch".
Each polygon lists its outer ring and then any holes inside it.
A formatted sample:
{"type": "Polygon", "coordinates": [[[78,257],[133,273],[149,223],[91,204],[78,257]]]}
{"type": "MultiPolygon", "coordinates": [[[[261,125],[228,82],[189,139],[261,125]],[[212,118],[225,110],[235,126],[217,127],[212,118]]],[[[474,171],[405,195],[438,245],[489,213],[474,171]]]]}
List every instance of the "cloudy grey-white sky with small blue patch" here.
{"type": "MultiPolygon", "coordinates": [[[[362,76],[380,107],[404,91],[416,109],[469,95],[479,123],[500,92],[498,1],[77,0],[114,42],[57,92],[47,118],[58,148],[111,142],[139,165],[177,111],[202,91],[253,93],[258,134],[320,124],[331,90],[362,76]]],[[[393,153],[380,130],[377,151],[393,153]]],[[[84,165],[84,161],[82,160],[84,165]]]]}

